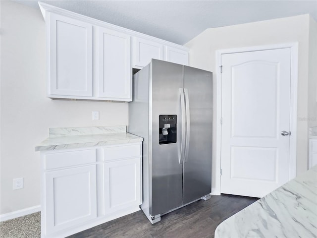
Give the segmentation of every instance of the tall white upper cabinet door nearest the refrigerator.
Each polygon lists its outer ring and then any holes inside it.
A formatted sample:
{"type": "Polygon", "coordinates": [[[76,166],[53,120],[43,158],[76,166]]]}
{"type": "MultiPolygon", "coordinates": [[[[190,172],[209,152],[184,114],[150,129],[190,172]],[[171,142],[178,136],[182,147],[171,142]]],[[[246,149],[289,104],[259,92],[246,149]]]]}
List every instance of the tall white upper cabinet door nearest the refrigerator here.
{"type": "Polygon", "coordinates": [[[132,101],[130,36],[98,28],[98,97],[132,101]]]}

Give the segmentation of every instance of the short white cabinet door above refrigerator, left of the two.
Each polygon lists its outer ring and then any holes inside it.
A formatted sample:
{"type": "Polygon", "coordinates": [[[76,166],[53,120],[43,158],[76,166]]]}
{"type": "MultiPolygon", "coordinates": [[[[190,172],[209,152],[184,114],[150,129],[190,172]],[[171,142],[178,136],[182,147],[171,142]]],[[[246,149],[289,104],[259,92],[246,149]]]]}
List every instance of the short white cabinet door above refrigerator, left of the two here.
{"type": "Polygon", "coordinates": [[[135,37],[134,67],[144,67],[151,59],[163,60],[163,45],[135,37]]]}

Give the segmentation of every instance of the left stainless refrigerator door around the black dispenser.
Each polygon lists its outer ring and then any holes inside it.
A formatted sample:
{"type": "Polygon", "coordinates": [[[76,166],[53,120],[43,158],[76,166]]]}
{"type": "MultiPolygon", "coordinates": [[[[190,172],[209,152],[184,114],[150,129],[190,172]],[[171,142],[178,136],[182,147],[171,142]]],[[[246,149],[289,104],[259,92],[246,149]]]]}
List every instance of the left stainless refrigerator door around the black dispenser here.
{"type": "MultiPolygon", "coordinates": [[[[150,64],[150,214],[168,212],[182,205],[182,161],[180,142],[182,115],[180,89],[183,87],[183,66],[152,60],[150,64]],[[152,99],[152,100],[151,100],[152,99]],[[151,114],[152,112],[152,114],[151,114]],[[176,115],[176,143],[159,144],[159,116],[176,115]]],[[[140,115],[142,117],[142,115],[140,115]]],[[[170,122],[166,122],[169,124],[170,122]]],[[[172,127],[173,125],[170,124],[172,127]]],[[[165,126],[169,128],[168,125],[165,126]]],[[[164,132],[166,133],[167,130],[164,132]]]]}

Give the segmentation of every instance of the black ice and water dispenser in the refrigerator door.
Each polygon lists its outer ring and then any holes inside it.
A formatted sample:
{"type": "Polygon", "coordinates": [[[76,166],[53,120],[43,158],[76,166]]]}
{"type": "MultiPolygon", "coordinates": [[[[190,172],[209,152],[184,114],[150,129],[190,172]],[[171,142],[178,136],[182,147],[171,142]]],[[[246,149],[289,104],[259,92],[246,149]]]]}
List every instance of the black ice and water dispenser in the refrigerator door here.
{"type": "Polygon", "coordinates": [[[159,115],[159,144],[176,143],[177,115],[159,115]]]}

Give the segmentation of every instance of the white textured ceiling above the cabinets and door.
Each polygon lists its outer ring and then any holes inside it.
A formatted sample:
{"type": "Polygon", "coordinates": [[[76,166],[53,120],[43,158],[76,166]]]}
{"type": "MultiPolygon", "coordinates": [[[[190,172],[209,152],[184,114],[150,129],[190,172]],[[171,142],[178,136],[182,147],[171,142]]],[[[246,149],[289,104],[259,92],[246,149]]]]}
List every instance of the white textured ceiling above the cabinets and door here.
{"type": "MultiPolygon", "coordinates": [[[[15,1],[39,8],[36,0],[15,1]]],[[[43,2],[181,45],[213,27],[306,13],[317,20],[317,0],[43,0],[43,2]]]]}

